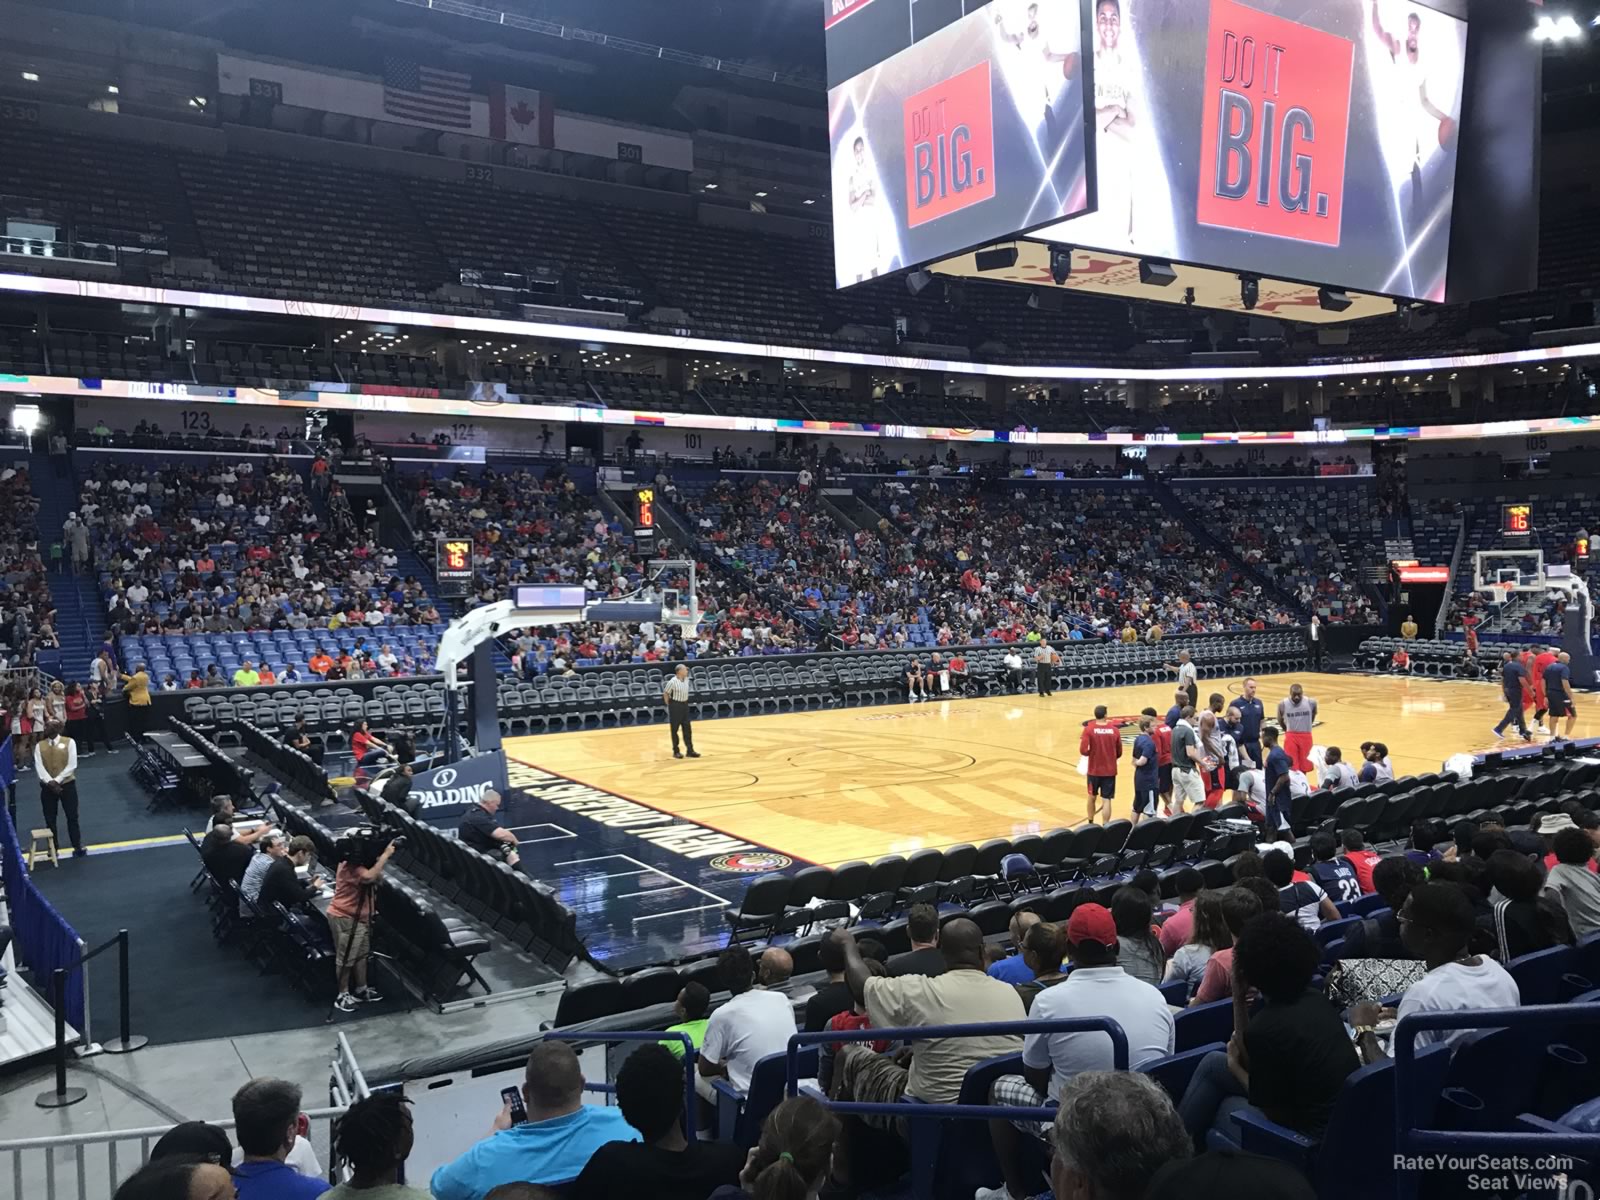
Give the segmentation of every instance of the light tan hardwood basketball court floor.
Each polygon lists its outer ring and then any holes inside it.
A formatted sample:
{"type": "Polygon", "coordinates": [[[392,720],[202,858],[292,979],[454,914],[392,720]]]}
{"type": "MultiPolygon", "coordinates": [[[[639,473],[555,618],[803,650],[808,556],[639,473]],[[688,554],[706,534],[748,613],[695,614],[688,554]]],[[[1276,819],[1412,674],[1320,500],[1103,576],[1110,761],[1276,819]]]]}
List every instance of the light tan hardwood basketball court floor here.
{"type": "MultiPolygon", "coordinates": [[[[1269,714],[1294,680],[1318,701],[1317,744],[1355,760],[1360,742],[1382,741],[1397,774],[1494,746],[1490,730],[1506,710],[1493,683],[1307,672],[1258,677],[1269,714]]],[[[1202,706],[1213,691],[1237,696],[1240,680],[1202,678],[1202,706]]],[[[1574,736],[1600,734],[1590,698],[1578,699],[1574,736]]],[[[1078,736],[1094,706],[1118,717],[1171,702],[1171,685],[1146,683],[706,720],[694,726],[704,757],[682,762],[666,725],[512,738],[506,749],[779,853],[838,864],[1078,824],[1078,736]]],[[[1518,744],[1515,730],[1506,744],[1518,744]]],[[[1114,816],[1128,814],[1133,794],[1126,754],[1122,768],[1114,816]]]]}

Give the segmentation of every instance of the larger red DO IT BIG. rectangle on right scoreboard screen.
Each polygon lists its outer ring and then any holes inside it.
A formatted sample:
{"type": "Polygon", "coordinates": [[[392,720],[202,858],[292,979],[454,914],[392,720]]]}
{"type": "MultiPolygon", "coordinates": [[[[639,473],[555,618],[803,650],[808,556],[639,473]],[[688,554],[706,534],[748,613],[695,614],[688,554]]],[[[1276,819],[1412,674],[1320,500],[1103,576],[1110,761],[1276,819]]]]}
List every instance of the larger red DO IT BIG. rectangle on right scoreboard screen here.
{"type": "Polygon", "coordinates": [[[1336,34],[1211,0],[1200,224],[1339,245],[1354,59],[1336,34]]]}

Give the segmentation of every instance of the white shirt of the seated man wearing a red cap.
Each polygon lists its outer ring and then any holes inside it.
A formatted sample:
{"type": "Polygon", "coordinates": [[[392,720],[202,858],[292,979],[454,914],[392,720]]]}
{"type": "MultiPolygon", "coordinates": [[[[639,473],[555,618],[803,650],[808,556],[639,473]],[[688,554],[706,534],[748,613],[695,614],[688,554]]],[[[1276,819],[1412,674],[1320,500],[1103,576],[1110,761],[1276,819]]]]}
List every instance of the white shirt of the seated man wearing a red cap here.
{"type": "MultiPolygon", "coordinates": [[[[1128,1066],[1133,1070],[1173,1053],[1173,1013],[1155,987],[1134,979],[1120,966],[1078,966],[1054,987],[1034,1000],[1030,1021],[1058,1021],[1070,1016],[1109,1016],[1128,1035],[1128,1066]]],[[[1061,1085],[1082,1070],[1110,1070],[1110,1038],[1104,1034],[1029,1034],[1022,1040],[1022,1062],[1051,1067],[1050,1099],[1059,1099],[1061,1085]]]]}

